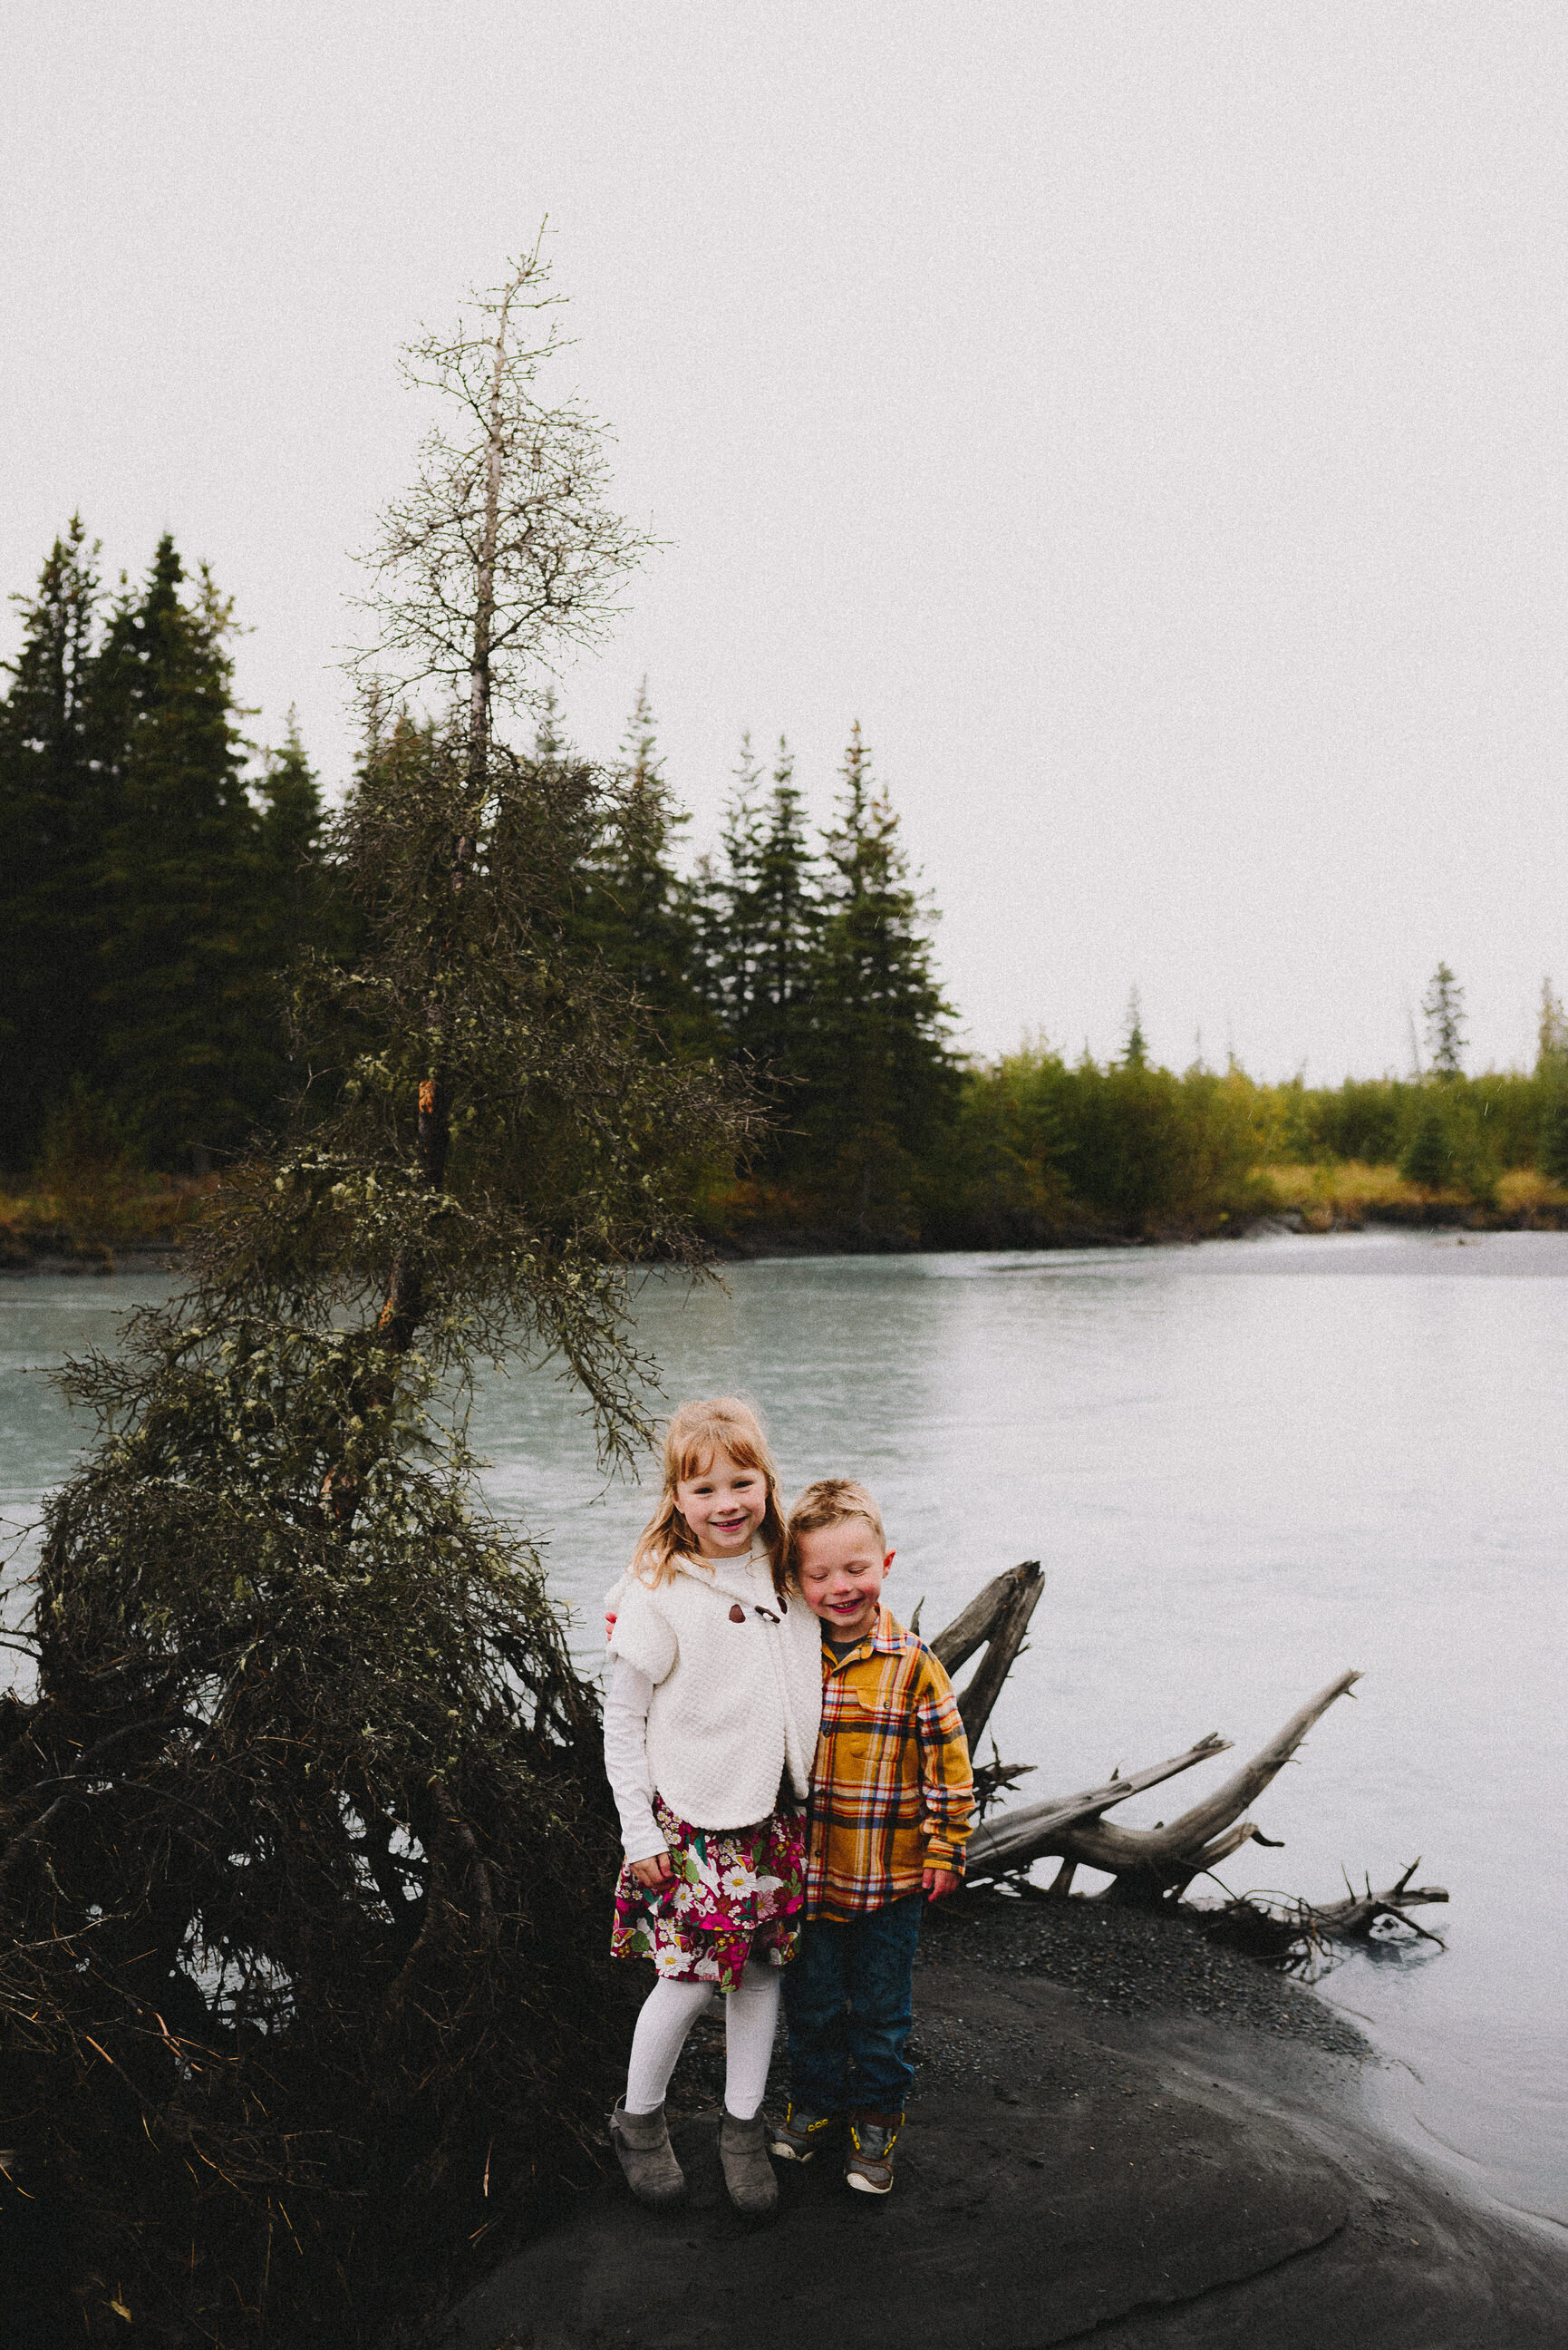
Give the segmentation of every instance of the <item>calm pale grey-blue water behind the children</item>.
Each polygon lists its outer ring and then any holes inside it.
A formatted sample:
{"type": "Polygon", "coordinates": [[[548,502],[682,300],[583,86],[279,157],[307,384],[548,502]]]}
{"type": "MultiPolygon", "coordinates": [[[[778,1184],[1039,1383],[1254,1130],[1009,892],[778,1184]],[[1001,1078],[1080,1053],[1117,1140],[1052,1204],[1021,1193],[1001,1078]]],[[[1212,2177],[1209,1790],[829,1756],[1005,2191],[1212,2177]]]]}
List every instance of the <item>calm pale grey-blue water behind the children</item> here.
{"type": "MultiPolygon", "coordinates": [[[[994,1727],[1030,1791],[1220,1730],[1246,1753],[1342,1666],[1366,1678],[1258,1802],[1284,1852],[1225,1882],[1333,1899],[1422,1856],[1443,1955],[1349,1958],[1326,1995],[1392,2059],[1389,2117],[1568,2225],[1568,1236],[1345,1236],[1192,1250],[748,1264],[651,1281],[672,1396],[750,1391],[785,1485],[879,1495],[889,1598],[938,1629],[1018,1558],[1046,1596],[994,1727]]],[[[80,1431],[24,1365],[113,1332],[143,1281],[0,1288],[0,1509],[80,1431]]],[[[545,1539],[588,1664],[649,1497],[604,1488],[550,1375],[491,1379],[498,1511],[545,1539]]],[[[1168,1817],[1225,1762],[1128,1805],[1168,1817]]]]}

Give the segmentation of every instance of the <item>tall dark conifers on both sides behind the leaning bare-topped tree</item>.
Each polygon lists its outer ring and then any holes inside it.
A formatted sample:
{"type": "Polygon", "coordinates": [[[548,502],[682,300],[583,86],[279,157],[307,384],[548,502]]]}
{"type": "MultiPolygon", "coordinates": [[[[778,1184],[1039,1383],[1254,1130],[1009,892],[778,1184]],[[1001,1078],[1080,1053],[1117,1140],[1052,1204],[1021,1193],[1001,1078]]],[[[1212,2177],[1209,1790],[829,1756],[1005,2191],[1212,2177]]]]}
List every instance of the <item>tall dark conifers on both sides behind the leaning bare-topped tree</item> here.
{"type": "MultiPolygon", "coordinates": [[[[0,1166],[96,1152],[200,1173],[292,1090],[284,971],[353,952],[331,822],[299,736],[247,766],[233,616],[165,538],[106,595],[80,522],[24,602],[0,703],[0,1166]]],[[[371,712],[367,764],[440,759],[371,712]]],[[[552,707],[534,761],[578,764],[552,707]]],[[[698,1177],[710,1222],[917,1238],[959,1069],[926,907],[858,728],[813,839],[788,745],[743,750],[719,851],[686,815],[639,696],[614,813],[574,844],[571,952],[628,978],[672,1058],[736,1058],[771,1112],[755,1159],[698,1177]]],[[[327,1076],[329,1083],[329,1076],[327,1076]]]]}

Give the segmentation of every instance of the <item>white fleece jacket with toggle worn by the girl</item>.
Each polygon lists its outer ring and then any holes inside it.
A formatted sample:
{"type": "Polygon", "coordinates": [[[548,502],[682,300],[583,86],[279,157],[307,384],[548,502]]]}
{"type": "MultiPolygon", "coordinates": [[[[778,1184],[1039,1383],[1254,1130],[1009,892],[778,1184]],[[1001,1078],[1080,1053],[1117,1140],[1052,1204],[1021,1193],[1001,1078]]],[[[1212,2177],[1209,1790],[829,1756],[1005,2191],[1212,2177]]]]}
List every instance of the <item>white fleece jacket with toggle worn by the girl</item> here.
{"type": "Polygon", "coordinates": [[[804,1802],[823,1640],[802,1598],[778,1598],[766,1558],[679,1558],[656,1589],[623,1577],[609,1605],[611,1657],[654,1683],[646,1767],[670,1810],[693,1828],[745,1828],[769,1817],[785,1772],[804,1802]]]}

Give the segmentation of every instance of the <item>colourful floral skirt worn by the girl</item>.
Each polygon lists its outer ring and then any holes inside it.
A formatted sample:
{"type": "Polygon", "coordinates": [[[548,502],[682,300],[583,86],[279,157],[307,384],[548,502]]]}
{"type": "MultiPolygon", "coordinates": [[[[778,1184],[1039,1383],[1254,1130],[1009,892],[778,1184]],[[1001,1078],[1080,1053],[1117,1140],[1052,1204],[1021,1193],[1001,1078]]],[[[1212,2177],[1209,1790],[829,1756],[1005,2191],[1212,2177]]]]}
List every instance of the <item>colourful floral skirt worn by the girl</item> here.
{"type": "Polygon", "coordinates": [[[658,1974],[733,1990],[748,1958],[788,1967],[806,1901],[806,1821],[773,1812],[755,1828],[693,1828],[663,1798],[654,1817],[670,1847],[672,1885],[616,1880],[616,1958],[651,1958],[658,1974]]]}

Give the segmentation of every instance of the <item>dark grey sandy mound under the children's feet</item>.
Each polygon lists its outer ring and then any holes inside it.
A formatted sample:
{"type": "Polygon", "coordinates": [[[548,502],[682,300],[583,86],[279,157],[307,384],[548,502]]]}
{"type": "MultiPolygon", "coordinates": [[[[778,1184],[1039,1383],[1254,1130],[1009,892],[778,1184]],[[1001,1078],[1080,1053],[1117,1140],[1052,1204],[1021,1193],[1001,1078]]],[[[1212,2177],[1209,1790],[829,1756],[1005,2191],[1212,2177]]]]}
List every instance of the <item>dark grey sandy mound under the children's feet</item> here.
{"type": "Polygon", "coordinates": [[[1180,1925],[1070,1913],[969,1896],[929,1934],[886,2202],[823,2157],[745,2228],[717,2169],[712,2028],[679,2082],[689,2204],[656,2216],[609,2178],[468,2296],[442,2350],[1568,2343],[1568,2247],[1368,2124],[1340,2016],[1180,1925]]]}

